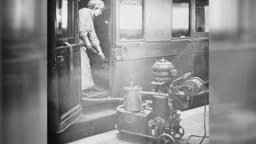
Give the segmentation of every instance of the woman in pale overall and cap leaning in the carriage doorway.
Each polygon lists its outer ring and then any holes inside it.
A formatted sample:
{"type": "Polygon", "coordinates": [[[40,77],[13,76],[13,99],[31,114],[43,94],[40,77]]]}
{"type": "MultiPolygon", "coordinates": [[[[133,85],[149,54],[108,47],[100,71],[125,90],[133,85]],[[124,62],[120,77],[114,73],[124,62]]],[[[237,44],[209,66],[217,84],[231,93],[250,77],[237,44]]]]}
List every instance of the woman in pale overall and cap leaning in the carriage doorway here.
{"type": "Polygon", "coordinates": [[[89,1],[88,8],[79,10],[79,43],[85,43],[86,46],[81,47],[81,90],[84,91],[101,91],[102,89],[96,88],[91,74],[90,60],[87,56],[87,50],[96,48],[98,55],[104,60],[104,56],[100,41],[95,32],[93,20],[96,16],[102,14],[105,9],[104,2],[101,0],[89,1]]]}

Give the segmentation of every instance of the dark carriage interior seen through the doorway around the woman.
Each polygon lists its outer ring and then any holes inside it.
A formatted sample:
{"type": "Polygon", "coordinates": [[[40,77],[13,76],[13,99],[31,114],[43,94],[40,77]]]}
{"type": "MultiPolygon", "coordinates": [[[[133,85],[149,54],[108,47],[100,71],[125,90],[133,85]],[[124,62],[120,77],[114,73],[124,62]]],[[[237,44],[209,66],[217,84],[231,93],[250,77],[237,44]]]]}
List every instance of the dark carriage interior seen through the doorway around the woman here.
{"type": "MultiPolygon", "coordinates": [[[[87,7],[89,0],[79,1],[79,9],[87,7]]],[[[106,9],[94,21],[95,31],[100,41],[102,52],[106,56],[108,62],[100,62],[100,58],[90,50],[87,54],[90,58],[91,70],[95,86],[104,89],[102,92],[87,92],[86,96],[106,96],[110,94],[110,1],[104,1],[106,9]]]]}

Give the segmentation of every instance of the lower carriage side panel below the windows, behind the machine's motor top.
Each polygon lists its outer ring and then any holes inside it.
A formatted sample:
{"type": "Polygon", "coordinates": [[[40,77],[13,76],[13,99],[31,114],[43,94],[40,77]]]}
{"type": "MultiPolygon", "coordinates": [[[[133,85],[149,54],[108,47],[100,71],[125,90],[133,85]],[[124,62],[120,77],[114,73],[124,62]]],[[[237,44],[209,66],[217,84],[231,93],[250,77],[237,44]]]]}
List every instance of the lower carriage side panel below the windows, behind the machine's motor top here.
{"type": "Polygon", "coordinates": [[[132,77],[142,86],[143,90],[152,90],[152,65],[161,56],[172,62],[178,71],[177,77],[188,71],[207,80],[209,40],[127,43],[127,58],[116,62],[114,96],[123,96],[123,87],[129,86],[132,77]],[[139,46],[138,46],[139,45],[139,46]],[[128,59],[129,58],[129,59],[128,59]]]}

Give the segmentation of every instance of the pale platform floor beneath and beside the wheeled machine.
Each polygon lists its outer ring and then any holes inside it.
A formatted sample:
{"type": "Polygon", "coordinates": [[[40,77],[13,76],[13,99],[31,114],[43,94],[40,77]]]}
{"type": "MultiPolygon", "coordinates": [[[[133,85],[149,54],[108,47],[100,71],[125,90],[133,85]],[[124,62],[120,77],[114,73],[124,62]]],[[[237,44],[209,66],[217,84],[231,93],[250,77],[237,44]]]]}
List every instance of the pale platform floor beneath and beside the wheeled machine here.
{"type": "MultiPolygon", "coordinates": [[[[183,111],[181,118],[181,126],[185,130],[183,139],[188,139],[189,135],[203,135],[203,110],[204,107],[198,107],[196,109],[190,109],[188,111],[183,111]]],[[[206,107],[206,135],[209,135],[209,105],[206,107]]],[[[192,137],[189,143],[199,143],[202,138],[192,137]]],[[[117,130],[112,130],[98,135],[93,135],[91,137],[86,137],[84,139],[79,139],[73,141],[70,144],[139,144],[139,143],[152,143],[151,139],[145,139],[144,137],[139,137],[135,135],[120,135],[117,130]]],[[[154,143],[154,142],[153,142],[154,143]]],[[[177,144],[186,143],[185,141],[177,140],[177,144]]],[[[205,138],[204,144],[209,143],[209,139],[205,138]]]]}

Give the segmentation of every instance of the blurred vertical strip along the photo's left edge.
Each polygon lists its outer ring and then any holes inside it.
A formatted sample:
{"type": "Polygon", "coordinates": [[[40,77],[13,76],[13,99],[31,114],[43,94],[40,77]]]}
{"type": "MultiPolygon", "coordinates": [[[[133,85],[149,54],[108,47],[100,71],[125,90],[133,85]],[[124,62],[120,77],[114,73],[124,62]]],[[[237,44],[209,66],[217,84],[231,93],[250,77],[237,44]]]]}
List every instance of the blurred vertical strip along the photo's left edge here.
{"type": "Polygon", "coordinates": [[[47,1],[0,3],[0,143],[47,143],[47,1]]]}

